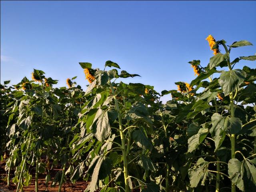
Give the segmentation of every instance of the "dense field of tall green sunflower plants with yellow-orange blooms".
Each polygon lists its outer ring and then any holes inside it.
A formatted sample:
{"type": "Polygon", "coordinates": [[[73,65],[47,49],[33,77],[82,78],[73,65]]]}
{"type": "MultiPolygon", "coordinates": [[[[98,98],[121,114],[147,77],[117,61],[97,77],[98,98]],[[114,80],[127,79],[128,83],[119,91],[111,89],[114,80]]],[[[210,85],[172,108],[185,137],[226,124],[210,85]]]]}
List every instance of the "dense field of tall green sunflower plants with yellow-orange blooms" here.
{"type": "Polygon", "coordinates": [[[88,182],[85,192],[256,191],[256,69],[236,68],[256,55],[230,60],[234,48],[252,43],[206,40],[214,56],[208,65],[188,62],[196,78],[176,82],[178,90],[125,84],[120,79],[139,75],[112,61],[103,70],[79,63],[85,91],[76,77],[54,88],[58,80],[36,69],[32,80],[5,81],[0,152],[7,185],[19,192],[35,178],[38,192],[45,174],[45,185],[59,192],[78,180],[88,182]],[[172,99],[163,104],[167,94],[172,99]]]}

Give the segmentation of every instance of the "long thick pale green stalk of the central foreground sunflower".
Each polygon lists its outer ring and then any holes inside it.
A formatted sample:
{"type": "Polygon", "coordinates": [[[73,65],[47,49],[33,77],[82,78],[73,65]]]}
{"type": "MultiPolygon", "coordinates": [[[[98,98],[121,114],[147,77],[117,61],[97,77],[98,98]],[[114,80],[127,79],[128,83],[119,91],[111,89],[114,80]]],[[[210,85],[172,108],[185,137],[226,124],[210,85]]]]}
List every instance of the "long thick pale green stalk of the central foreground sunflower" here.
{"type": "Polygon", "coordinates": [[[122,128],[122,116],[120,113],[120,109],[118,106],[118,101],[116,99],[116,94],[115,90],[112,86],[112,83],[109,81],[110,88],[112,90],[112,93],[114,95],[114,100],[116,104],[116,111],[118,112],[118,122],[119,122],[119,132],[120,132],[120,138],[122,142],[122,154],[123,154],[123,161],[124,161],[124,184],[125,184],[125,192],[129,192],[129,185],[128,185],[128,164],[127,164],[127,156],[126,156],[126,149],[125,149],[125,138],[124,138],[124,133],[123,133],[123,128],[122,128]]]}

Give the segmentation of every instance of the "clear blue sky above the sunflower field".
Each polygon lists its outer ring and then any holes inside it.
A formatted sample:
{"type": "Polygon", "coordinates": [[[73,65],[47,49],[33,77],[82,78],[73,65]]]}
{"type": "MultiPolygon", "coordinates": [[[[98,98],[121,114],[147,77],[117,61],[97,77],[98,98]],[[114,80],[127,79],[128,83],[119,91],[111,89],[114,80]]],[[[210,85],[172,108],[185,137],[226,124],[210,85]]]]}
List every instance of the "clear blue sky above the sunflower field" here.
{"type": "MultiPolygon", "coordinates": [[[[16,84],[36,68],[58,86],[78,76],[86,88],[78,62],[103,69],[112,60],[141,75],[126,83],[176,89],[174,82],[195,78],[189,61],[206,66],[213,56],[209,34],[256,45],[255,21],[256,1],[1,1],[0,80],[16,84]]],[[[231,58],[255,53],[255,46],[234,48],[231,58]]]]}

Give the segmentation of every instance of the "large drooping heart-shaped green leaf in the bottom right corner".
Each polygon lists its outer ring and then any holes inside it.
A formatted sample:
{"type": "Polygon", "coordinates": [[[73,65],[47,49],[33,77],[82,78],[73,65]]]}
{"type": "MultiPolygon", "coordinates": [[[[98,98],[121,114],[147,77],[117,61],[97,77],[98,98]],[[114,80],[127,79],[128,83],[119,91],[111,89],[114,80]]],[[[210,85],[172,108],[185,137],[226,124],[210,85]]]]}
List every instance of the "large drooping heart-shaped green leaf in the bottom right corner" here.
{"type": "Polygon", "coordinates": [[[228,162],[228,175],[232,183],[243,192],[256,191],[256,167],[251,160],[230,159],[228,162]]]}

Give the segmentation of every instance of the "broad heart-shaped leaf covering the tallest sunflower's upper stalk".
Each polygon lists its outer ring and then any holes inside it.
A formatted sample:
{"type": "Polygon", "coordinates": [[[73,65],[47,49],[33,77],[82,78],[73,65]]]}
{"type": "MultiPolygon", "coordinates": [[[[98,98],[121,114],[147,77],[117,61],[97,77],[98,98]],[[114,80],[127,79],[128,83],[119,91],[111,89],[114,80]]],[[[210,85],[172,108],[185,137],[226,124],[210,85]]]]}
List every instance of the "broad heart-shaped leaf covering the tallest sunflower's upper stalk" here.
{"type": "Polygon", "coordinates": [[[222,72],[218,80],[225,96],[236,90],[246,78],[246,73],[243,70],[235,69],[222,72]]]}

